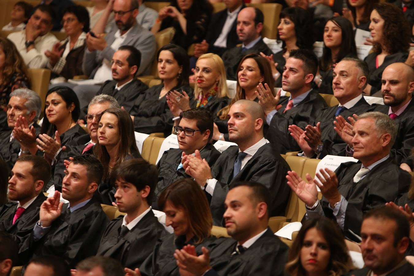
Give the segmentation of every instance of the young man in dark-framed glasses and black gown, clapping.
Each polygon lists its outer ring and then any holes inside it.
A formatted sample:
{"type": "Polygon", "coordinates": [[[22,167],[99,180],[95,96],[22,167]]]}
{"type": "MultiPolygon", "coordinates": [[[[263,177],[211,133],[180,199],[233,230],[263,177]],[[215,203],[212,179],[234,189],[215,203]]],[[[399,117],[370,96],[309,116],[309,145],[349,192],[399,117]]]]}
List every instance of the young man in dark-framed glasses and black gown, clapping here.
{"type": "Polygon", "coordinates": [[[220,152],[209,141],[213,135],[213,118],[208,108],[193,108],[181,113],[181,120],[174,126],[177,134],[178,149],[169,149],[161,156],[158,166],[158,183],[154,190],[153,208],[161,192],[174,181],[181,178],[191,178],[185,173],[182,156],[194,155],[200,151],[201,158],[208,166],[213,166],[220,152]]]}

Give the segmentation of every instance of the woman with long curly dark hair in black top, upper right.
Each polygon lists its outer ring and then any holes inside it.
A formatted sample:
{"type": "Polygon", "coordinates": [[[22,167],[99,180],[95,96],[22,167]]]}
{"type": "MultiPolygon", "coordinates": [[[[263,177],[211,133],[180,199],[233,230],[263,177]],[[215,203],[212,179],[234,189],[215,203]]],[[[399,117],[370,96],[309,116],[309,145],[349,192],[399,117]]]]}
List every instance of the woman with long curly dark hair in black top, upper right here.
{"type": "Polygon", "coordinates": [[[370,75],[364,92],[373,95],[381,90],[381,77],[385,67],[407,60],[411,30],[402,10],[394,4],[375,5],[370,18],[373,53],[365,58],[370,75]]]}

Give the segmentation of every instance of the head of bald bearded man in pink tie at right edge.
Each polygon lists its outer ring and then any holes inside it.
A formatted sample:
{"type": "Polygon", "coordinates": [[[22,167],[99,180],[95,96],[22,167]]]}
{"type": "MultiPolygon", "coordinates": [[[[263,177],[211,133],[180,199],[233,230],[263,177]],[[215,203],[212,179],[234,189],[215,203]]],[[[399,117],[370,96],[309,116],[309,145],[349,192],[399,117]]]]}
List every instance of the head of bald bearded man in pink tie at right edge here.
{"type": "Polygon", "coordinates": [[[414,69],[403,62],[392,63],[384,69],[381,83],[384,104],[397,112],[412,99],[414,69]]]}

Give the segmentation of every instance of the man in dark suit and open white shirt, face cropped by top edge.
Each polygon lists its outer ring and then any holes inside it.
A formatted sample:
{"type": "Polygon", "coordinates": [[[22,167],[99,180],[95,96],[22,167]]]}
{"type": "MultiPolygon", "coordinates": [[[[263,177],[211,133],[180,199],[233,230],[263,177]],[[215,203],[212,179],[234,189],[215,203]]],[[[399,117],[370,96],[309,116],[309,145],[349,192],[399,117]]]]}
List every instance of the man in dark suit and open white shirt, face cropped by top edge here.
{"type": "Polygon", "coordinates": [[[205,53],[221,56],[227,49],[241,43],[236,32],[237,15],[246,5],[243,0],[228,0],[224,3],[226,9],[212,15],[205,39],[195,44],[196,58],[205,53]]]}

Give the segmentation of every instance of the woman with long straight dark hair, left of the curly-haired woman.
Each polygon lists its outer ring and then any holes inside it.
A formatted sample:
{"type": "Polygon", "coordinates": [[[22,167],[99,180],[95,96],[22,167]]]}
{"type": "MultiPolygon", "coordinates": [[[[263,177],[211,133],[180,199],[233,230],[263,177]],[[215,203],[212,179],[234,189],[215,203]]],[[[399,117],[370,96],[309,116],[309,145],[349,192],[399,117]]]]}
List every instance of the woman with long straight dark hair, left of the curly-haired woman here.
{"type": "Polygon", "coordinates": [[[323,31],[323,54],[319,59],[319,74],[315,84],[319,93],[333,94],[333,68],[343,58],[357,58],[352,24],[344,17],[333,17],[323,31]]]}

